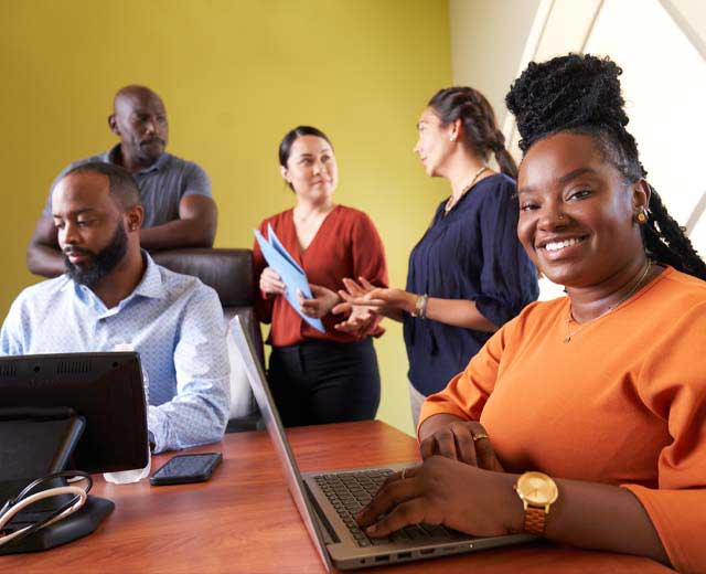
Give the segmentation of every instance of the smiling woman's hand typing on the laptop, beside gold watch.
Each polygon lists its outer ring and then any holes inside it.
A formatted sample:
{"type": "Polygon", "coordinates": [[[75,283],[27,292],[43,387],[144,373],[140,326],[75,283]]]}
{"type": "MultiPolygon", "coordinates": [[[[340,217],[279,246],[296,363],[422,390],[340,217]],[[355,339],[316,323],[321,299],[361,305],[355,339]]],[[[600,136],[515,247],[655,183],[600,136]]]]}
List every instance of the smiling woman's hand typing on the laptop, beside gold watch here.
{"type": "Polygon", "coordinates": [[[522,502],[515,477],[434,456],[396,472],[357,517],[371,536],[386,536],[407,524],[443,524],[477,536],[522,529],[522,502]],[[383,517],[383,518],[381,518],[383,517]]]}

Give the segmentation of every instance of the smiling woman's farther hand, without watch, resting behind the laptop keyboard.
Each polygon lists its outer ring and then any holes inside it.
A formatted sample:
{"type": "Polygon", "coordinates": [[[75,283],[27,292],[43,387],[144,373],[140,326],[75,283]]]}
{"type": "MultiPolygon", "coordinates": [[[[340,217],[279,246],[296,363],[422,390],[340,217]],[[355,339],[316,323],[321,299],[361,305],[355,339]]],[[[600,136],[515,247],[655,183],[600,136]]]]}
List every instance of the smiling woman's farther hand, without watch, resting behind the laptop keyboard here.
{"type": "Polygon", "coordinates": [[[419,440],[425,460],[439,455],[485,470],[505,471],[485,428],[475,421],[461,421],[450,415],[429,417],[419,428],[419,440]],[[440,417],[449,417],[449,422],[443,424],[446,421],[440,417]]]}

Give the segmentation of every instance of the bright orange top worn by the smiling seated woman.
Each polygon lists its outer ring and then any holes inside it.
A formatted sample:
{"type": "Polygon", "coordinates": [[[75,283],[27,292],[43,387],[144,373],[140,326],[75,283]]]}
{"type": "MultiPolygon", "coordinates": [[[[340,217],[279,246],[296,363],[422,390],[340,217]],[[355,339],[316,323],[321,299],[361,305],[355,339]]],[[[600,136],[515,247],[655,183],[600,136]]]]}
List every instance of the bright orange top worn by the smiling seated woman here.
{"type": "Polygon", "coordinates": [[[674,567],[706,572],[706,283],[667,267],[565,343],[568,317],[527,306],[421,421],[480,421],[512,471],[630,489],[674,567]]]}

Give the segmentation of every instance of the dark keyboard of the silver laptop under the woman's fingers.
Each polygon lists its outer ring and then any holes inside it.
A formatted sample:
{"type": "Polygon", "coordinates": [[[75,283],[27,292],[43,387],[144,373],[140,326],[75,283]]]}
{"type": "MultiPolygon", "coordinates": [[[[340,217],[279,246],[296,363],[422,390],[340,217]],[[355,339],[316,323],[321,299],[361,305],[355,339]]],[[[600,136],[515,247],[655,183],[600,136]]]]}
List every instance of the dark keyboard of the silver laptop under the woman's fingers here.
{"type": "Polygon", "coordinates": [[[377,546],[393,542],[437,543],[456,539],[447,529],[437,524],[410,524],[387,538],[368,538],[355,522],[357,513],[367,504],[393,470],[388,468],[338,472],[313,477],[343,520],[359,546],[377,546]]]}

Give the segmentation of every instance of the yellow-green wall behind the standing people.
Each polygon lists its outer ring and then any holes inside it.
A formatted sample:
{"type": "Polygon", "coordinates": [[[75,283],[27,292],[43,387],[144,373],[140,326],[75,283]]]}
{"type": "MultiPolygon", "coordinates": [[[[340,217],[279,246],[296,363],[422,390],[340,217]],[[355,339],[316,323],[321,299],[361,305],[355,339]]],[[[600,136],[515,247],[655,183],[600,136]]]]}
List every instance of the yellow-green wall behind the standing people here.
{"type": "MultiPolygon", "coordinates": [[[[446,187],[415,160],[415,121],[451,82],[446,0],[0,0],[6,264],[0,315],[38,280],[24,266],[56,172],[114,144],[111,96],[142,83],[164,99],[169,150],[211,176],[216,246],[250,246],[263,217],[291,206],[276,159],[297,124],[335,146],[338,201],[366,211],[385,242],[392,283],[446,187]]],[[[376,346],[378,416],[411,428],[397,325],[376,346]]]]}

